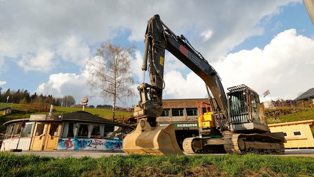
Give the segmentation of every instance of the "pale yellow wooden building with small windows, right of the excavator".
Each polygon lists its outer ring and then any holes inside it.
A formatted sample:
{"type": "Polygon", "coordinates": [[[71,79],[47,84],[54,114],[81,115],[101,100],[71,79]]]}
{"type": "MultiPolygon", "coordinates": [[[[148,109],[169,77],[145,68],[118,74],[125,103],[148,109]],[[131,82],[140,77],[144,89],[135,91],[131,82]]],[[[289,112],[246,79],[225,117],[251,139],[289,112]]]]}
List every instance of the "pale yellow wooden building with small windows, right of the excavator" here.
{"type": "Polygon", "coordinates": [[[314,120],[276,123],[268,125],[271,132],[284,132],[287,143],[285,148],[314,148],[311,128],[314,120]]]}

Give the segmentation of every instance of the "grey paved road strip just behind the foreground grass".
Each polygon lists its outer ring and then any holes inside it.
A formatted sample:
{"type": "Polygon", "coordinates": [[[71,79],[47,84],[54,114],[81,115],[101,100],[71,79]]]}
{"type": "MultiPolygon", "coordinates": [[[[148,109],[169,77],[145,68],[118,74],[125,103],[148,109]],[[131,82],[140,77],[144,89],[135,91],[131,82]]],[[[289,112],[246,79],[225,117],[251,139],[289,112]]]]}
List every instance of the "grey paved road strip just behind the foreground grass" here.
{"type": "MultiPolygon", "coordinates": [[[[104,151],[22,151],[22,152],[13,152],[16,155],[24,155],[24,154],[34,154],[39,156],[48,156],[48,157],[59,157],[59,158],[66,158],[66,157],[74,157],[74,158],[81,158],[84,156],[89,156],[92,158],[99,158],[102,156],[110,156],[110,155],[123,155],[125,156],[126,153],[124,152],[104,152],[104,151]]],[[[190,154],[186,154],[190,155],[190,154]]],[[[223,154],[211,154],[211,155],[223,155],[223,154]]],[[[286,149],[285,155],[281,156],[310,156],[314,157],[314,149],[286,149]]]]}

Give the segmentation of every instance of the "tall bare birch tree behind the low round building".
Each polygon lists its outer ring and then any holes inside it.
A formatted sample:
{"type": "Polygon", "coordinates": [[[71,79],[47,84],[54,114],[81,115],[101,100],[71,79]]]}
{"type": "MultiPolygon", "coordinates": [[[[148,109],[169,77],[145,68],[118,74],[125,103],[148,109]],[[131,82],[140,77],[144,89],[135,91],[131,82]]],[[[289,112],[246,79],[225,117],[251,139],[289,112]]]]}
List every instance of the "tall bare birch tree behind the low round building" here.
{"type": "Polygon", "coordinates": [[[131,57],[135,48],[134,45],[124,48],[110,41],[103,42],[96,51],[96,57],[90,57],[86,61],[90,74],[87,84],[94,96],[113,100],[113,120],[117,99],[125,102],[127,98],[134,96],[134,89],[130,86],[134,84],[131,57]]]}

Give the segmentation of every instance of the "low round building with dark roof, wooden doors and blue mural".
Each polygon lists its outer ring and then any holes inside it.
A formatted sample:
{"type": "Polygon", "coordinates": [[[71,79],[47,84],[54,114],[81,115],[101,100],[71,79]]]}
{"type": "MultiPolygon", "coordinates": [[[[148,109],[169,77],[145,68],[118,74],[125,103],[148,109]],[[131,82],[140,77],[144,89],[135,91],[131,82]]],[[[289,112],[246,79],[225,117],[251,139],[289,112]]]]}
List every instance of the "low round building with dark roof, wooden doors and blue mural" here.
{"type": "Polygon", "coordinates": [[[133,127],[85,111],[61,115],[33,114],[5,122],[0,151],[109,150],[121,151],[133,127]]]}

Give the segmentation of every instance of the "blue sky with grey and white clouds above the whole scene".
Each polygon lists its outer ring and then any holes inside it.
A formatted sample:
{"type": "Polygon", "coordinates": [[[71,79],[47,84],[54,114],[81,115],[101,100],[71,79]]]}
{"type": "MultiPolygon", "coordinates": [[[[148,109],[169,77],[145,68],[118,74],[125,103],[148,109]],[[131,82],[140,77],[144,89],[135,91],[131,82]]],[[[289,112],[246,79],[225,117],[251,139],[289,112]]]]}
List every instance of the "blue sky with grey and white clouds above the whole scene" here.
{"type": "MultiPolygon", "coordinates": [[[[85,60],[107,40],[134,44],[131,67],[141,84],[155,14],[204,56],[225,90],[245,84],[265,101],[267,89],[276,100],[314,88],[314,26],[302,0],[0,0],[0,87],[112,104],[91,97],[85,60]]],[[[164,70],[163,99],[207,97],[203,81],[169,53],[164,70]]]]}

